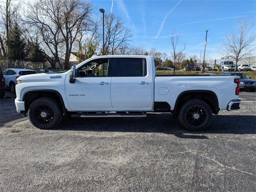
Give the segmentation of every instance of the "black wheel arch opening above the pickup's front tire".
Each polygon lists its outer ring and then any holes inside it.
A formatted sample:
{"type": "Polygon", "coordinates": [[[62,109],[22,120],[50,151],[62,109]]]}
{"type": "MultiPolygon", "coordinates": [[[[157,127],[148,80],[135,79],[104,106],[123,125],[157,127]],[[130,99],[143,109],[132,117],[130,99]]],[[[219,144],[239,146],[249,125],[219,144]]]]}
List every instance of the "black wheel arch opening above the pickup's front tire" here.
{"type": "Polygon", "coordinates": [[[30,104],[42,97],[50,97],[54,98],[58,101],[60,107],[63,110],[64,115],[68,114],[68,110],[65,107],[64,100],[61,96],[61,94],[56,90],[50,90],[50,89],[39,89],[39,90],[28,90],[26,91],[22,96],[22,101],[25,101],[25,113],[28,112],[28,108],[30,104]]]}

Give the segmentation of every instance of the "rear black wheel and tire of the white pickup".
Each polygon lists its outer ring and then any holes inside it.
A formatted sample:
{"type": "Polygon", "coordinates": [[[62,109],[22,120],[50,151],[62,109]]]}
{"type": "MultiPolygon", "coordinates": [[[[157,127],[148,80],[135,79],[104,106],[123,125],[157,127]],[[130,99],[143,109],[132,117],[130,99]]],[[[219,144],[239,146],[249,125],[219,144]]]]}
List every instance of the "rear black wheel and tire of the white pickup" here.
{"type": "Polygon", "coordinates": [[[204,130],[212,121],[212,110],[202,100],[188,100],[180,108],[178,120],[182,126],[190,131],[204,130]]]}

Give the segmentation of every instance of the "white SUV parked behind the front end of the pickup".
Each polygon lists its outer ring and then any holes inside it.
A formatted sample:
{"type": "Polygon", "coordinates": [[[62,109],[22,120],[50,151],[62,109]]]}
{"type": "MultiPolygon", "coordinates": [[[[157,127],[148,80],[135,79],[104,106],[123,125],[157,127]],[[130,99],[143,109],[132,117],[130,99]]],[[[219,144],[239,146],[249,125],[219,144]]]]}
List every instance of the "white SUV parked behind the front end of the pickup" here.
{"type": "Polygon", "coordinates": [[[30,69],[6,69],[3,71],[6,88],[10,88],[12,93],[15,93],[15,85],[17,78],[24,75],[36,74],[36,71],[30,69]]]}

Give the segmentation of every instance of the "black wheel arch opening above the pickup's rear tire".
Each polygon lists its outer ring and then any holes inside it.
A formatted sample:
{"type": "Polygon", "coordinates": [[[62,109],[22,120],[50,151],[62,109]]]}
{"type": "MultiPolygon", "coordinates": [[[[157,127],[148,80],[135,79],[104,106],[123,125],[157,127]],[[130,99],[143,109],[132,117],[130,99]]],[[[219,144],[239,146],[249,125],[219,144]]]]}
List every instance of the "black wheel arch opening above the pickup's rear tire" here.
{"type": "Polygon", "coordinates": [[[174,112],[178,112],[182,106],[182,103],[186,102],[187,100],[191,99],[200,99],[204,102],[206,102],[210,108],[212,109],[213,114],[218,114],[220,108],[219,108],[219,102],[217,95],[210,90],[189,90],[181,92],[175,102],[174,105],[174,112]]]}

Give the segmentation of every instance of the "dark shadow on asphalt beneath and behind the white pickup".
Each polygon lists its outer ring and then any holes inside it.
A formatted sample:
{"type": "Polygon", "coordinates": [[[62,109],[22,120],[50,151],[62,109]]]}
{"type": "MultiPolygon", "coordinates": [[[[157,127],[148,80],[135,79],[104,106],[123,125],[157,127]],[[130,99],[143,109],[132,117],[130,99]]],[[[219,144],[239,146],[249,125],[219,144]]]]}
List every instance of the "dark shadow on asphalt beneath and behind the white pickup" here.
{"type": "Polygon", "coordinates": [[[152,113],[146,118],[65,118],[55,130],[157,132],[179,138],[207,139],[200,134],[256,134],[256,116],[214,115],[208,129],[200,132],[186,130],[170,113],[152,113]]]}

